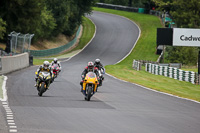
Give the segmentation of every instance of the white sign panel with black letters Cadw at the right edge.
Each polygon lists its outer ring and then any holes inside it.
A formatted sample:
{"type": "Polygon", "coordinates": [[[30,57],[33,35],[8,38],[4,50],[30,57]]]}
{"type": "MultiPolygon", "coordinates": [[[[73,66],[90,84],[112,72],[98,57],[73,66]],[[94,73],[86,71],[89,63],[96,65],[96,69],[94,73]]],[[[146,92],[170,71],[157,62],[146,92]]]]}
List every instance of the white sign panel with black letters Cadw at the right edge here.
{"type": "Polygon", "coordinates": [[[200,47],[200,29],[173,28],[172,45],[200,47]]]}

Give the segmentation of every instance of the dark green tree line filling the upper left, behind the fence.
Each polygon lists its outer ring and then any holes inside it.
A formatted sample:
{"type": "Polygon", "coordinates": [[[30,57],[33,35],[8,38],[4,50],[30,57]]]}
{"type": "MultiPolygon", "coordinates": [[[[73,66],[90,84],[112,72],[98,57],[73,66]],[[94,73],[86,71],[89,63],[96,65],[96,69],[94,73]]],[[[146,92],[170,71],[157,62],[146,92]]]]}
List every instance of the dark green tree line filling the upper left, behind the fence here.
{"type": "Polygon", "coordinates": [[[71,36],[93,5],[92,0],[1,0],[0,39],[12,31],[35,34],[35,40],[71,36]]]}

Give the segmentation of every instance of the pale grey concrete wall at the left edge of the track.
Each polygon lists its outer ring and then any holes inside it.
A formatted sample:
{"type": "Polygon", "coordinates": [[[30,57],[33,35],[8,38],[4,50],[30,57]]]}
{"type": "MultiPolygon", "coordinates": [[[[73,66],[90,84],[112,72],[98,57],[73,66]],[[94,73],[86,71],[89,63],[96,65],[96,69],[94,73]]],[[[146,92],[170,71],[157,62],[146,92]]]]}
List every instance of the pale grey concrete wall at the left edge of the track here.
{"type": "Polygon", "coordinates": [[[29,66],[29,54],[0,57],[0,74],[6,74],[29,66]]]}

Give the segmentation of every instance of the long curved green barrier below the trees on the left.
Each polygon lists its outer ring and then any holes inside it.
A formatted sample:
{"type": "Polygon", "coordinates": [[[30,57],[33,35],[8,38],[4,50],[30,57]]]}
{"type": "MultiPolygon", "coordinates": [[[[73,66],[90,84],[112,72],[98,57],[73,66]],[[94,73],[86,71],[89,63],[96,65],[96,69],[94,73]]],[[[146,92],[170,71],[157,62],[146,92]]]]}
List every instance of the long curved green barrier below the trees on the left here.
{"type": "Polygon", "coordinates": [[[78,28],[78,30],[76,32],[76,36],[71,42],[69,42],[69,43],[67,43],[63,46],[60,46],[60,47],[57,47],[57,48],[52,48],[52,49],[30,50],[30,55],[33,56],[33,57],[45,57],[45,56],[51,56],[51,55],[59,54],[59,53],[65,51],[65,50],[67,50],[68,48],[70,48],[71,46],[73,46],[76,43],[78,35],[80,33],[80,30],[81,30],[81,26],[78,28]]]}

